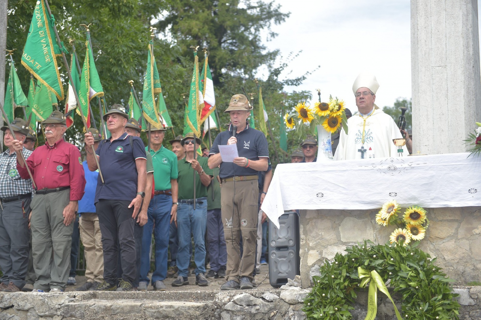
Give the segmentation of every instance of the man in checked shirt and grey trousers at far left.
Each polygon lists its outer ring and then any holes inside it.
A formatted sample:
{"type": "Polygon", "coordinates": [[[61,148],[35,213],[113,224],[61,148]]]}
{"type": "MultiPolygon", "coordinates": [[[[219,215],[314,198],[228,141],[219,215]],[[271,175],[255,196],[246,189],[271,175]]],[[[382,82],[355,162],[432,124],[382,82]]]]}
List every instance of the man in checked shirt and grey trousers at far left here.
{"type": "MultiPolygon", "coordinates": [[[[11,123],[16,139],[24,141],[28,134],[25,120],[16,118],[11,123]]],[[[25,285],[28,267],[28,214],[32,199],[32,181],[22,179],[17,172],[13,149],[13,135],[8,126],[4,132],[3,144],[8,149],[0,154],[0,290],[18,292],[25,285]]],[[[32,151],[23,148],[27,159],[32,151]]]]}

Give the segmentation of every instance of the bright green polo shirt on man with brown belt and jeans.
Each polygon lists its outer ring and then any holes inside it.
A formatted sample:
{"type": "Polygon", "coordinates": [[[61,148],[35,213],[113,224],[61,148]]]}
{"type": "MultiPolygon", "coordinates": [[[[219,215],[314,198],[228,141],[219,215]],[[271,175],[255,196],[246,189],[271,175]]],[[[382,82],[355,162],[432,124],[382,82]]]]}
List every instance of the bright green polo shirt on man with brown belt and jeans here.
{"type": "MultiPolygon", "coordinates": [[[[145,150],[148,148],[145,147],[145,150]]],[[[155,152],[151,149],[153,164],[153,180],[155,191],[169,190],[171,179],[177,179],[177,156],[174,152],[162,146],[155,152]]]]}

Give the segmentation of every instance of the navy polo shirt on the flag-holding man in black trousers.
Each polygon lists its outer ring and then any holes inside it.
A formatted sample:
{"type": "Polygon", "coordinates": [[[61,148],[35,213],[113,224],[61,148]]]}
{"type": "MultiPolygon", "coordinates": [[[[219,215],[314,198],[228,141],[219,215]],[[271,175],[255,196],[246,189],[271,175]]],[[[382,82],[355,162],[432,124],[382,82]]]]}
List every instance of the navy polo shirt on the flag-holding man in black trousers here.
{"type": "Polygon", "coordinates": [[[100,170],[105,184],[99,177],[95,190],[95,203],[100,199],[133,200],[137,196],[137,166],[135,160],[147,159],[142,139],[132,136],[132,145],[127,133],[114,141],[102,140],[97,148],[100,170]]]}

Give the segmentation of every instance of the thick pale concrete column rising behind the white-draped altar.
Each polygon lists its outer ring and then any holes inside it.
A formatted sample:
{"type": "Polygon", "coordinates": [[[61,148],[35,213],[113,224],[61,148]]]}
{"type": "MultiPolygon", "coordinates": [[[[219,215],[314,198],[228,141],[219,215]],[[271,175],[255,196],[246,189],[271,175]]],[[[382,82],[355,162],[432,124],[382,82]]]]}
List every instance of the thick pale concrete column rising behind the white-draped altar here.
{"type": "Polygon", "coordinates": [[[478,0],[411,0],[413,153],[465,152],[481,121],[478,0]]]}

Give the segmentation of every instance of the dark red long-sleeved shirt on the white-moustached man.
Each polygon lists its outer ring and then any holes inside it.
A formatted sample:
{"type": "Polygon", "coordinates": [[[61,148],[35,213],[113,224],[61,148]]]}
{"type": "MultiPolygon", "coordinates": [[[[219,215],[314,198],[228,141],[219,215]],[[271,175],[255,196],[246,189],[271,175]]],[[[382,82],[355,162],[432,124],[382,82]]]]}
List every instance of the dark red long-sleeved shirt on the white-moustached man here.
{"type": "MultiPolygon", "coordinates": [[[[32,172],[37,189],[70,187],[70,200],[80,200],[84,195],[85,174],[80,151],[63,140],[53,146],[38,147],[28,157],[27,165],[32,172]]],[[[28,179],[25,167],[17,163],[17,170],[23,179],[28,179]]]]}

